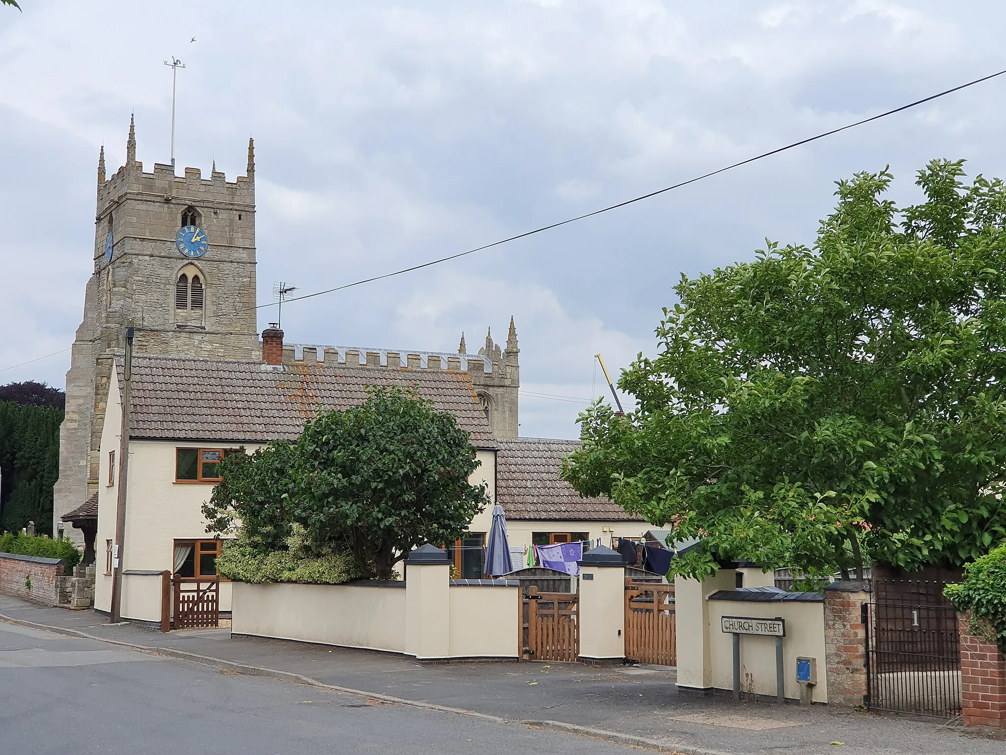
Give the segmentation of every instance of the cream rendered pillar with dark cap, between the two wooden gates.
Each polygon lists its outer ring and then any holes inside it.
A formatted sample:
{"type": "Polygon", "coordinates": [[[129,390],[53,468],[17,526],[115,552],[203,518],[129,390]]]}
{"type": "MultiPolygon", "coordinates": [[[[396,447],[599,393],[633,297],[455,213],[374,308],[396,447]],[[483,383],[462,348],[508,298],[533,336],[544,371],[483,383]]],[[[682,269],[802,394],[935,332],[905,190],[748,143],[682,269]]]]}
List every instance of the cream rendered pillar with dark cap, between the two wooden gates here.
{"type": "Polygon", "coordinates": [[[599,546],[577,563],[579,660],[593,665],[621,663],[626,656],[625,560],[622,554],[599,546]]]}

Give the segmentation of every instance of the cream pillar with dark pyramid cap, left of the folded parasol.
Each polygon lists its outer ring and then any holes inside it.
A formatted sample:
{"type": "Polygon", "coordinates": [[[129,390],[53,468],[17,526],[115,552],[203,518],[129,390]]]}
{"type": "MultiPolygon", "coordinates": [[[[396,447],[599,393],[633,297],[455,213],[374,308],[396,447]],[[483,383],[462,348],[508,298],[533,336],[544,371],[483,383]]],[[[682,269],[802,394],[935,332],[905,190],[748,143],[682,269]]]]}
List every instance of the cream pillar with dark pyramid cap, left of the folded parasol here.
{"type": "Polygon", "coordinates": [[[416,548],[405,560],[405,652],[417,659],[446,658],[451,643],[451,559],[436,546],[416,548]]]}

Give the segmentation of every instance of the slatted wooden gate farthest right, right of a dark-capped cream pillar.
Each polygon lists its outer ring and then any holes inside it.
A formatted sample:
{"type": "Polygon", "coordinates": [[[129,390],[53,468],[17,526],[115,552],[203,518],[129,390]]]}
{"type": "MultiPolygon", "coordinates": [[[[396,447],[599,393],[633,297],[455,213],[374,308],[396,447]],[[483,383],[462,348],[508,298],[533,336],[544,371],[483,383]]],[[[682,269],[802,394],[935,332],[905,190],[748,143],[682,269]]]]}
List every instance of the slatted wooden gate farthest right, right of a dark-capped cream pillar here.
{"type": "Polygon", "coordinates": [[[626,580],[626,657],[678,664],[674,585],[626,580]]]}

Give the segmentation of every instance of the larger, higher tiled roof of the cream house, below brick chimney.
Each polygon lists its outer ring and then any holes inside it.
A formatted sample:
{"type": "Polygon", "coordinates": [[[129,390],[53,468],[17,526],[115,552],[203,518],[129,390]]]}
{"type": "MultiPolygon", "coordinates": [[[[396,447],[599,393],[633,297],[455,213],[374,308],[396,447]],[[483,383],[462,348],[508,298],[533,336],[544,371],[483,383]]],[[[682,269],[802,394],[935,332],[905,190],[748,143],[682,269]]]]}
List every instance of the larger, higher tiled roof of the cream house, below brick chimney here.
{"type": "MultiPolygon", "coordinates": [[[[120,366],[120,375],[121,375],[120,366]]],[[[457,370],[181,359],[137,354],[131,394],[133,438],[265,442],[296,438],[319,410],[366,400],[368,386],[414,387],[480,448],[496,442],[468,372],[457,370]]]]}

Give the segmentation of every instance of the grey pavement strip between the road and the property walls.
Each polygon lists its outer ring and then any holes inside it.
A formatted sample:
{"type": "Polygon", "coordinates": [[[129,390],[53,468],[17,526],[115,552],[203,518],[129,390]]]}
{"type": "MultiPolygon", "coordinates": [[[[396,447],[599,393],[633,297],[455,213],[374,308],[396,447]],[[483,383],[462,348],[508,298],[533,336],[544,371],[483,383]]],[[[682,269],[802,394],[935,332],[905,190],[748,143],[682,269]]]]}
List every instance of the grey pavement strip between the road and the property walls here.
{"type": "MultiPolygon", "coordinates": [[[[453,713],[496,725],[566,731],[683,755],[1006,752],[1002,740],[973,734],[953,722],[915,721],[826,706],[734,703],[728,695],[679,696],[674,669],[659,666],[426,664],[391,653],[231,637],[226,628],[162,634],[130,623],[110,624],[94,611],[49,608],[5,596],[0,596],[0,620],[22,626],[27,622],[48,632],[77,632],[73,636],[196,660],[237,671],[242,677],[269,676],[362,695],[377,703],[426,709],[431,714],[453,713]]],[[[0,647],[0,666],[3,656],[0,647]]]]}

